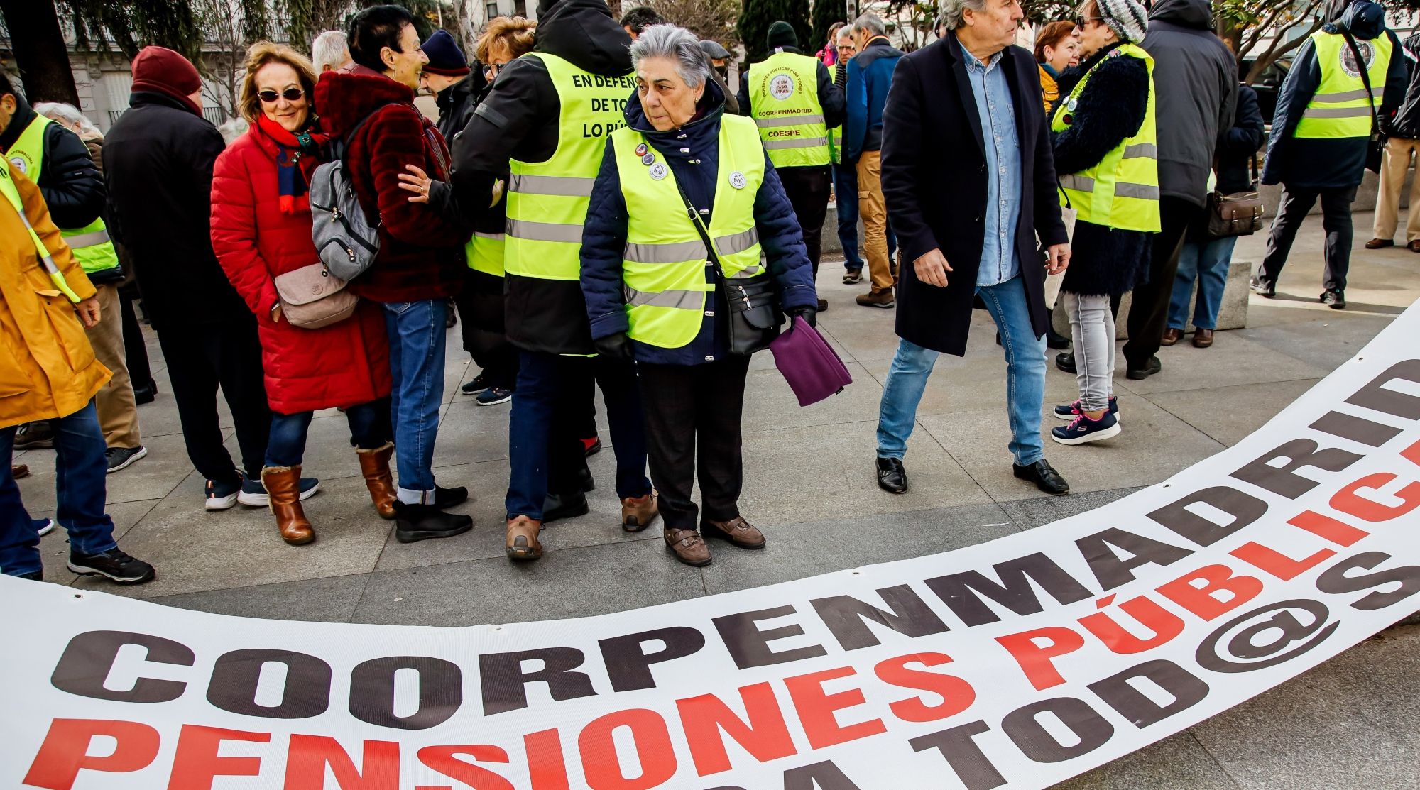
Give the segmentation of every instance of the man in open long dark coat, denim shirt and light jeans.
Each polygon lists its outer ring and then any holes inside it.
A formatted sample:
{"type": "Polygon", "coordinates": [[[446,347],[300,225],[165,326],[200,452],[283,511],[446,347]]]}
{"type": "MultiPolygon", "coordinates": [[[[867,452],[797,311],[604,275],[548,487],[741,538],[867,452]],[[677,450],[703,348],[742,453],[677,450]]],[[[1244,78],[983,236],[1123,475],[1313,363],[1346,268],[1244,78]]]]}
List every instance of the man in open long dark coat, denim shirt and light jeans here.
{"type": "Polygon", "coordinates": [[[1045,274],[1065,269],[1069,244],[1038,70],[1011,45],[1017,0],[946,0],[943,17],[947,36],[899,61],[883,119],[888,215],[913,263],[878,418],[878,485],[907,490],[902,459],[927,377],[939,352],[966,352],[980,297],[1005,351],[1012,473],[1066,494],[1041,446],[1045,274]]]}

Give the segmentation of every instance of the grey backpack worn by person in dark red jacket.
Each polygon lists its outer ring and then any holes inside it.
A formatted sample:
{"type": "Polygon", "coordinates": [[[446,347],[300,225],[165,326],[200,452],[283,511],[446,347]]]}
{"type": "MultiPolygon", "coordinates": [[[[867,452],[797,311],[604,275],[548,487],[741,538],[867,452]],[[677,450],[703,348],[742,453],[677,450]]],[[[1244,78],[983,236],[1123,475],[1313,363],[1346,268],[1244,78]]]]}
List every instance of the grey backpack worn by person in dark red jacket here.
{"type": "MultiPolygon", "coordinates": [[[[375,112],[379,112],[378,109],[375,112]]],[[[355,124],[344,138],[331,141],[331,161],[315,168],[311,175],[308,200],[311,203],[311,240],[327,271],[341,280],[354,280],[375,263],[379,253],[379,223],[365,219],[355,198],[355,185],[345,169],[345,142],[365,125],[375,112],[355,124]]]]}

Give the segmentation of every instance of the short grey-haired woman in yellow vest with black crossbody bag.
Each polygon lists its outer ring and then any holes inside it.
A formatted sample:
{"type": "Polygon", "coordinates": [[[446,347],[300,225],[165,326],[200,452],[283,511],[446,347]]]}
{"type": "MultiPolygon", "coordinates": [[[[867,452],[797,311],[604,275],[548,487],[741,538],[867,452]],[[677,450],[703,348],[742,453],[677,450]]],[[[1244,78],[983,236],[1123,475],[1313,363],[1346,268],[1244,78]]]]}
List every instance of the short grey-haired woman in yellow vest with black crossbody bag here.
{"type": "Polygon", "coordinates": [[[818,296],[754,121],[724,114],[696,37],[648,27],[630,57],[636,95],[592,188],[582,291],[596,350],[638,362],[666,546],[682,563],[706,566],[703,539],[764,546],[738,509],[750,357],[728,350],[716,270],[730,280],[772,277],[780,308],[809,323],[818,296]],[[697,472],[699,513],[690,499],[697,472]]]}

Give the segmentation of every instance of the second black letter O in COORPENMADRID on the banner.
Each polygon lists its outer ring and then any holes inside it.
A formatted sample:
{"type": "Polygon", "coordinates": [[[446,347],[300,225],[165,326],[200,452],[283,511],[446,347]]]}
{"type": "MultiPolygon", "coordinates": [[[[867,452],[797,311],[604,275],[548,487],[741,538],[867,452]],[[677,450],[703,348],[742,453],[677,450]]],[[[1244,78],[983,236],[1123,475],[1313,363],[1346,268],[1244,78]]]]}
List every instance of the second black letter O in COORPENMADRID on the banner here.
{"type": "Polygon", "coordinates": [[[426,730],[447,722],[463,705],[463,671],[452,661],[423,655],[373,658],[351,672],[351,716],[381,727],[426,730]],[[395,715],[395,673],[419,673],[419,709],[395,715]]]}

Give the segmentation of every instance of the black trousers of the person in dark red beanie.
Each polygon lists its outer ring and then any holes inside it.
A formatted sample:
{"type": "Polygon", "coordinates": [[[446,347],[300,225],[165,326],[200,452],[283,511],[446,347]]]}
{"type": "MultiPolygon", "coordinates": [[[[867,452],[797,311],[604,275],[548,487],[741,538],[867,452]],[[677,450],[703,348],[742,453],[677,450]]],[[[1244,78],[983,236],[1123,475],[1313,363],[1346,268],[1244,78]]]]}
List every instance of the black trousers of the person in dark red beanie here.
{"type": "Polygon", "coordinates": [[[158,344],[168,362],[192,465],[209,480],[234,483],[237,479],[231,455],[222,446],[220,385],[237,428],[241,466],[248,479],[260,480],[271,433],[271,409],[266,399],[256,320],[241,315],[224,324],[166,327],[158,331],[158,344]]]}

